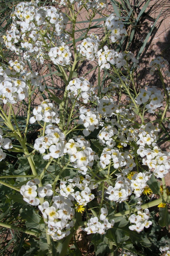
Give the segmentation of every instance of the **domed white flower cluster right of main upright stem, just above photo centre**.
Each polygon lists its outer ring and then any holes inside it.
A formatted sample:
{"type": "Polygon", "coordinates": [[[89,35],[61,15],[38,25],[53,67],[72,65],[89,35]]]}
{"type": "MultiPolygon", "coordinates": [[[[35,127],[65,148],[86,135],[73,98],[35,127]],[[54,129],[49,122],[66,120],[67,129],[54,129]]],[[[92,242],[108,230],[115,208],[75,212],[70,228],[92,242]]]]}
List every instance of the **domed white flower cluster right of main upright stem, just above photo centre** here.
{"type": "Polygon", "coordinates": [[[67,90],[70,91],[70,99],[78,101],[81,98],[84,103],[87,103],[94,92],[94,87],[87,79],[80,77],[71,80],[67,86],[67,90]]]}

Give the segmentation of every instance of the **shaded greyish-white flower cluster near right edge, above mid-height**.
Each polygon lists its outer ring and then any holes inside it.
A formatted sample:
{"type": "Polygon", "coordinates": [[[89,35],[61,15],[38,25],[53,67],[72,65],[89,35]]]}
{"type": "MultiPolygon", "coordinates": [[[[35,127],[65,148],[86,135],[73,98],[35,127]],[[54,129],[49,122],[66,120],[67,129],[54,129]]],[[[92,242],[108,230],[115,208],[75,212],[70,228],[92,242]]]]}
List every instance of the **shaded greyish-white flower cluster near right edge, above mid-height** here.
{"type": "Polygon", "coordinates": [[[145,106],[146,109],[148,109],[149,113],[154,114],[157,108],[163,106],[164,95],[155,86],[146,86],[146,90],[140,89],[140,93],[136,100],[138,105],[148,103],[145,106]]]}

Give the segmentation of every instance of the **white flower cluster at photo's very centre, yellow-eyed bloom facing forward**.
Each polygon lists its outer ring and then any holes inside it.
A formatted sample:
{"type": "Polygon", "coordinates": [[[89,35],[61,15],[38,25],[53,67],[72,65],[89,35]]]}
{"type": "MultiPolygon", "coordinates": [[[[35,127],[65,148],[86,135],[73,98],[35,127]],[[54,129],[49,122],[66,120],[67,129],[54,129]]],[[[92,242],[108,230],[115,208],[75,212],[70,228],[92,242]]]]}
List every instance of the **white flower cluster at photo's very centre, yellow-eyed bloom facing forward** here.
{"type": "Polygon", "coordinates": [[[78,124],[83,124],[85,129],[83,134],[88,136],[94,129],[97,129],[100,124],[100,115],[95,108],[84,108],[79,109],[80,116],[78,124]]]}

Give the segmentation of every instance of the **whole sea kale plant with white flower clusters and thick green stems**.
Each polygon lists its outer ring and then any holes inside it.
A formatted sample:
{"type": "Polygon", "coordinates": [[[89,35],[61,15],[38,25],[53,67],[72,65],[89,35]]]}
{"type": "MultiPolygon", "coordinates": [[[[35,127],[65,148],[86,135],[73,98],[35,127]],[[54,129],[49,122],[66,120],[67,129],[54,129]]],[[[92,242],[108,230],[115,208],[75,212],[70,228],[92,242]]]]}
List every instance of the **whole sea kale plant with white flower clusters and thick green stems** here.
{"type": "Polygon", "coordinates": [[[22,255],[82,255],[80,230],[94,255],[169,255],[168,62],[148,64],[159,88],[138,85],[143,46],[129,51],[133,19],[111,3],[21,2],[1,34],[0,226],[27,234],[22,255]]]}

